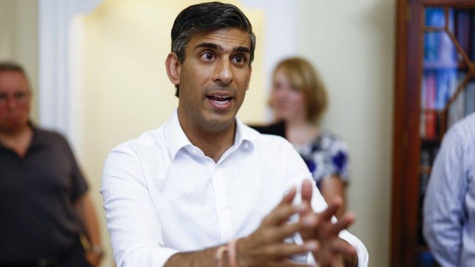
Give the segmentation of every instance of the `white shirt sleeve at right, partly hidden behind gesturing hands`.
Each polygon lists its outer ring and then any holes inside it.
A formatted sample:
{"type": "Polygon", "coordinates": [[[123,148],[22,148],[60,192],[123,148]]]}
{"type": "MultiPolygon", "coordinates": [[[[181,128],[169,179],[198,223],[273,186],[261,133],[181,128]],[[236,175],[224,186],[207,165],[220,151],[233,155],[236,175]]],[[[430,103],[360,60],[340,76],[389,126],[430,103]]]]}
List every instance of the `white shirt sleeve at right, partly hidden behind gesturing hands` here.
{"type": "MultiPolygon", "coordinates": [[[[295,149],[293,149],[290,143],[285,145],[285,149],[282,155],[284,157],[283,162],[285,162],[285,166],[287,166],[287,170],[285,171],[285,174],[287,175],[286,191],[292,187],[297,188],[297,196],[295,197],[294,202],[298,203],[301,201],[301,184],[304,180],[308,179],[311,181],[313,186],[311,206],[315,212],[324,211],[328,206],[327,202],[325,202],[325,199],[316,187],[315,181],[311,178],[311,173],[309,172],[307,165],[302,160],[300,155],[298,155],[295,149]]],[[[336,221],[336,218],[333,217],[332,220],[336,221]]],[[[369,255],[365,245],[356,236],[352,235],[346,230],[340,231],[339,237],[347,241],[351,246],[356,249],[356,253],[358,255],[358,267],[367,267],[369,264],[369,255]]],[[[297,244],[303,243],[303,240],[300,235],[294,236],[294,240],[297,244]]],[[[311,253],[309,253],[308,255],[307,262],[314,263],[314,259],[311,253]]]]}

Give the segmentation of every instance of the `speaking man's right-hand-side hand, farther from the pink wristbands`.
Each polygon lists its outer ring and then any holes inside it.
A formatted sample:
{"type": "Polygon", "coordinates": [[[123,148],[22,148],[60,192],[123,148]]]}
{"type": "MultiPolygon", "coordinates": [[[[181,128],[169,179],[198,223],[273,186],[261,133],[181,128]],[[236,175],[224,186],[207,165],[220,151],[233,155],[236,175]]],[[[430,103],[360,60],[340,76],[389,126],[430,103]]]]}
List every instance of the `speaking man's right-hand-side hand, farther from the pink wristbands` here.
{"type": "Polygon", "coordinates": [[[338,237],[338,233],[347,229],[355,221],[353,214],[344,214],[338,222],[331,222],[331,218],[343,205],[341,198],[336,197],[322,213],[313,212],[310,201],[312,196],[312,184],[310,180],[302,183],[302,203],[306,204],[306,210],[299,213],[300,221],[315,222],[313,228],[300,231],[304,240],[317,240],[320,249],[313,253],[315,260],[321,267],[339,267],[351,262],[354,265],[356,249],[345,240],[338,237]]]}

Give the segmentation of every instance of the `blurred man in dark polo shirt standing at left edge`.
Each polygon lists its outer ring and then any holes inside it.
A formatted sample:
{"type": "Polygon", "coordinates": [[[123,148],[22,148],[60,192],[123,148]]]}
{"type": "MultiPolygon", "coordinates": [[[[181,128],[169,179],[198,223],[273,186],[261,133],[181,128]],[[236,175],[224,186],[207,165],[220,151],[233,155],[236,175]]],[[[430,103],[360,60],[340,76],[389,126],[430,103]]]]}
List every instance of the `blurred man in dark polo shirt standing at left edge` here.
{"type": "Polygon", "coordinates": [[[29,122],[31,94],[23,68],[0,62],[0,266],[96,266],[101,242],[87,184],[66,140],[29,122]]]}

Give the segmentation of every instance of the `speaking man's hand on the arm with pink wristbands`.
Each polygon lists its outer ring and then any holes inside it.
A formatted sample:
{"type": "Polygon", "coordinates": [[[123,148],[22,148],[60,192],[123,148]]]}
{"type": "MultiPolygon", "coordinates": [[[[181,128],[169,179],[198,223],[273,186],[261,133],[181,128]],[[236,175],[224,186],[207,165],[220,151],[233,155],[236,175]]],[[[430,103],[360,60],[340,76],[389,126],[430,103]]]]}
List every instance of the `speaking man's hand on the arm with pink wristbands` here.
{"type": "Polygon", "coordinates": [[[292,205],[296,190],[292,188],[280,204],[262,220],[259,228],[251,235],[237,240],[237,262],[241,267],[305,265],[292,263],[289,257],[305,252],[316,252],[319,245],[316,240],[308,239],[304,245],[285,244],[284,239],[297,231],[312,227],[313,223],[297,222],[288,224],[292,214],[303,212],[307,204],[292,205]]]}

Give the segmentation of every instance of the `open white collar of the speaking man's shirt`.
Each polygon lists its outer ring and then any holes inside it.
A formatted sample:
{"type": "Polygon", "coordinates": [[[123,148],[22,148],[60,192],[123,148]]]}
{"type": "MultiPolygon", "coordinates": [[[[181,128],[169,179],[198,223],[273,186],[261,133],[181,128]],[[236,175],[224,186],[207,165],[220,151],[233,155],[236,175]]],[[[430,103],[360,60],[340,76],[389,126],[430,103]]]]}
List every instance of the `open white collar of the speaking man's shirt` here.
{"type": "MultiPolygon", "coordinates": [[[[183,132],[183,128],[178,120],[177,110],[175,110],[173,115],[164,124],[164,136],[172,159],[175,159],[178,151],[183,147],[188,145],[193,146],[183,132]]],[[[254,147],[254,142],[255,137],[253,130],[236,118],[236,135],[233,146],[238,148],[241,145],[244,145],[246,148],[252,149],[254,147]]]]}

